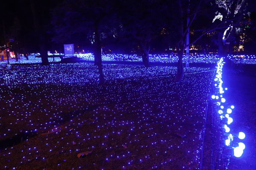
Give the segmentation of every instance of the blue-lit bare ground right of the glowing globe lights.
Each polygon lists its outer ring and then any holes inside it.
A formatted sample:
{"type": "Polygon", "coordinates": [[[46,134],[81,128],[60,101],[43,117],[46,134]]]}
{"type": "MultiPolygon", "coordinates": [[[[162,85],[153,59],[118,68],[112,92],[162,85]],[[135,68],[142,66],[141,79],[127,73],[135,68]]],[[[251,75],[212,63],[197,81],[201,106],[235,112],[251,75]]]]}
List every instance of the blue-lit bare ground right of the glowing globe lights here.
{"type": "Polygon", "coordinates": [[[225,96],[228,104],[235,106],[231,129],[246,134],[246,148],[240,158],[231,157],[228,169],[256,170],[256,75],[234,70],[224,68],[224,87],[228,88],[225,96]]]}

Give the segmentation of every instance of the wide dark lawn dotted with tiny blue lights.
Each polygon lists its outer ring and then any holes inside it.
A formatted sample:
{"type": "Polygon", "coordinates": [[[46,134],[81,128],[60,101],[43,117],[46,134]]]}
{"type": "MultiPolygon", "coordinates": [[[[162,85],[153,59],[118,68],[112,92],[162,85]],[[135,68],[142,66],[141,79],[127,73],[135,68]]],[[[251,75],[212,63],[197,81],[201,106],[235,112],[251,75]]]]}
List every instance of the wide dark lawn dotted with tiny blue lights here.
{"type": "Polygon", "coordinates": [[[89,63],[1,69],[1,170],[199,165],[215,69],[185,69],[175,84],[175,67],[104,65],[105,85],[89,63]]]}

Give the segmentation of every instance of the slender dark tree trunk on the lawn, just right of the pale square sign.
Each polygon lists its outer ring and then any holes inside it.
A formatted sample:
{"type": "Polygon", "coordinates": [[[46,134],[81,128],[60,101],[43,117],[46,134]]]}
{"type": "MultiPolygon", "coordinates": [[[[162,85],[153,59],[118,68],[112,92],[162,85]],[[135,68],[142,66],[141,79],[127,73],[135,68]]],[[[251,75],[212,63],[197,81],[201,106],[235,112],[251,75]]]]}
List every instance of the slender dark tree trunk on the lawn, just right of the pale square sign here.
{"type": "Polygon", "coordinates": [[[95,41],[94,41],[94,64],[98,66],[100,84],[104,83],[102,58],[101,58],[101,45],[100,45],[100,33],[99,25],[95,23],[95,41]]]}

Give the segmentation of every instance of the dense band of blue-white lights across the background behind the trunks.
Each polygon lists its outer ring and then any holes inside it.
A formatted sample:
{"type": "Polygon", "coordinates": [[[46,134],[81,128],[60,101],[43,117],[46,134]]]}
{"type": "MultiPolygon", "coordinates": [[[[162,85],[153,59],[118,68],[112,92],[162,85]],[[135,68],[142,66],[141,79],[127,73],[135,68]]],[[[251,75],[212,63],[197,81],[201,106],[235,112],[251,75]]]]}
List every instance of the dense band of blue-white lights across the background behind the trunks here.
{"type": "MultiPolygon", "coordinates": [[[[61,58],[59,55],[64,56],[62,53],[48,53],[49,56],[56,55],[54,60],[52,57],[48,58],[49,62],[59,62],[61,58]]],[[[41,63],[40,53],[31,53],[28,55],[28,59],[24,56],[19,57],[18,61],[15,58],[10,58],[9,63],[41,63]]],[[[75,53],[74,56],[84,61],[94,61],[93,53],[75,53]]],[[[70,56],[64,56],[70,57],[70,56]]],[[[235,64],[256,64],[255,55],[227,55],[227,58],[235,64]]],[[[139,55],[124,55],[124,54],[106,54],[102,55],[102,61],[142,61],[139,55]]],[[[177,63],[177,55],[149,55],[149,61],[151,63],[177,63]]],[[[219,61],[218,55],[190,55],[189,59],[183,55],[183,63],[217,63],[219,61]]],[[[1,61],[1,63],[7,63],[7,61],[1,61]]]]}

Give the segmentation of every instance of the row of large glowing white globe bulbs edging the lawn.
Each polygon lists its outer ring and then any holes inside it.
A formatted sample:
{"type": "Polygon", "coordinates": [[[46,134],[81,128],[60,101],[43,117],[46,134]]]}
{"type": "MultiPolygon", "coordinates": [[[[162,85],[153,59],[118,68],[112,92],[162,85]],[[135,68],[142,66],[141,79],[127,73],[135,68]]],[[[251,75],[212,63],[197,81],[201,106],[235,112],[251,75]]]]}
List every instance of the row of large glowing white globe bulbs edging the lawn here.
{"type": "MultiPolygon", "coordinates": [[[[222,87],[223,81],[222,81],[222,69],[224,66],[223,58],[220,59],[220,61],[217,63],[217,74],[215,78],[215,86],[218,89],[218,92],[216,92],[215,95],[212,95],[212,99],[216,101],[217,106],[220,107],[218,108],[218,115],[221,118],[221,121],[223,122],[223,128],[224,132],[227,133],[227,139],[225,140],[225,145],[232,147],[234,151],[234,156],[235,157],[240,157],[243,154],[243,150],[245,149],[245,145],[242,142],[238,143],[238,147],[233,147],[232,146],[232,141],[234,139],[234,135],[230,133],[230,125],[233,122],[233,119],[230,117],[230,114],[232,113],[232,109],[235,107],[232,105],[228,107],[224,103],[226,102],[226,99],[224,98],[224,88],[222,87]],[[218,100],[218,96],[220,96],[220,100],[218,100]]],[[[227,90],[227,88],[225,88],[227,90]]],[[[243,132],[240,132],[238,134],[239,139],[244,139],[245,134],[243,132]]]]}

